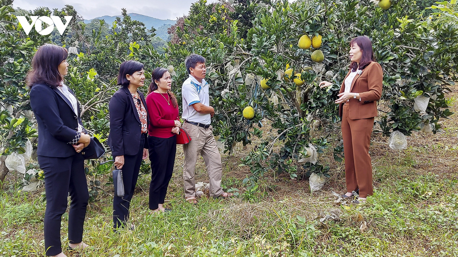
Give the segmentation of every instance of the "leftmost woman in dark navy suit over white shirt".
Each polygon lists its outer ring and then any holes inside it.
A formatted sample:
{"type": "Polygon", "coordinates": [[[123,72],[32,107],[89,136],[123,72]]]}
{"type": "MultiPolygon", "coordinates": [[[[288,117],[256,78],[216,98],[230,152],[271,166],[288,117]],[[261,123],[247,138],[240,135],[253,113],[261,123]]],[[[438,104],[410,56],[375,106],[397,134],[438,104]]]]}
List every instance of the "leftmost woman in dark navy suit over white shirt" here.
{"type": "Polygon", "coordinates": [[[84,158],[80,153],[90,137],[80,119],[78,101],[64,84],[67,75],[67,50],[45,44],[38,48],[27,75],[30,105],[38,123],[38,164],[44,171],[46,211],[44,245],[47,256],[65,257],[60,242],[60,222],[68,215],[69,248],[85,248],[82,242],[86,216],[87,191],[84,158]]]}

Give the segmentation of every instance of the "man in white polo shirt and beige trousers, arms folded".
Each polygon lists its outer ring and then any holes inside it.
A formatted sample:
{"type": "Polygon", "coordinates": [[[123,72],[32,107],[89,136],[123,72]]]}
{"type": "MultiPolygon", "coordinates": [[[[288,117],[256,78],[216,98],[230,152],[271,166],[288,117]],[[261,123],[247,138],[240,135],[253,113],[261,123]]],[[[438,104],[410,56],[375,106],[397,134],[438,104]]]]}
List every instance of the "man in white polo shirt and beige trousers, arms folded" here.
{"type": "Polygon", "coordinates": [[[194,175],[199,154],[207,166],[210,178],[210,195],[213,197],[231,197],[234,194],[226,193],[221,187],[223,167],[221,155],[213,137],[213,127],[210,125],[215,109],[210,106],[208,83],[205,81],[205,58],[199,54],[191,54],[185,60],[189,78],[181,88],[183,96],[183,128],[186,129],[191,142],[183,145],[185,166],[183,179],[185,181],[185,199],[190,203],[197,203],[194,175]]]}

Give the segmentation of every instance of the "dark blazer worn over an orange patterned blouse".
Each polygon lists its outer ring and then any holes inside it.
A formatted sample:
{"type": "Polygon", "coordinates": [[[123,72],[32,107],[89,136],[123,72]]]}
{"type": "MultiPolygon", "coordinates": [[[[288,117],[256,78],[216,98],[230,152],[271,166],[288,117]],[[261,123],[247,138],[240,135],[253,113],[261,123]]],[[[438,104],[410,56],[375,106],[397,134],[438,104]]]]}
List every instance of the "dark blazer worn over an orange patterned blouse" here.
{"type": "MultiPolygon", "coordinates": [[[[147,111],[143,94],[137,91],[147,111]]],[[[148,111],[147,111],[148,112],[148,111]]],[[[111,97],[109,103],[110,134],[108,145],[113,156],[136,155],[140,148],[142,122],[138,117],[134,99],[127,87],[122,87],[111,97]]],[[[149,123],[149,116],[147,118],[149,123]]],[[[148,148],[148,140],[143,140],[143,148],[148,148]]]]}

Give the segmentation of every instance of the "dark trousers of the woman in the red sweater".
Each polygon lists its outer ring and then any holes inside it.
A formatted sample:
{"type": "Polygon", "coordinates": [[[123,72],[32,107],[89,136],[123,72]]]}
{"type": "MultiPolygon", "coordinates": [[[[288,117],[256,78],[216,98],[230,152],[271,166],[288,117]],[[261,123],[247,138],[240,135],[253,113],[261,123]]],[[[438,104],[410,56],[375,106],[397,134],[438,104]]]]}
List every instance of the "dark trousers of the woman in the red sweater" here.
{"type": "Polygon", "coordinates": [[[149,209],[158,209],[163,204],[167,187],[172,178],[176,154],[176,136],[158,138],[148,136],[149,160],[151,161],[151,183],[149,184],[149,209]]]}

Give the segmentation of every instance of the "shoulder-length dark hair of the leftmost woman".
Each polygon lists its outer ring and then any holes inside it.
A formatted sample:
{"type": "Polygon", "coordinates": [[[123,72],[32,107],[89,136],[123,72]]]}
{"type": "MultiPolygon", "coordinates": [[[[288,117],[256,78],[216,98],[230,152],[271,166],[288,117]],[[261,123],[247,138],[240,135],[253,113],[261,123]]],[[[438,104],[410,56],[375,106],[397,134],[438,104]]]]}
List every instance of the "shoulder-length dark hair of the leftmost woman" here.
{"type": "Polygon", "coordinates": [[[61,46],[44,44],[39,47],[32,59],[32,70],[27,74],[27,86],[32,88],[37,83],[47,84],[51,88],[60,86],[64,77],[58,67],[67,56],[67,49],[61,46]]]}

